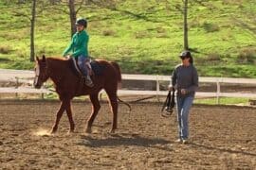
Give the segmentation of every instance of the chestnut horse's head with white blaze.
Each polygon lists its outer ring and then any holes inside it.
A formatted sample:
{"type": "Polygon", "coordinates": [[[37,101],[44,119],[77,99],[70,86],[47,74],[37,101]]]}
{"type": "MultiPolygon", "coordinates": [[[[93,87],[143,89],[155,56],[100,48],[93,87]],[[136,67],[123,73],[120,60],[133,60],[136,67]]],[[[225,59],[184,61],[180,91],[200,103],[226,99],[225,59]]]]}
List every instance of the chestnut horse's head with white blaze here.
{"type": "Polygon", "coordinates": [[[46,56],[43,55],[42,59],[36,57],[34,87],[36,89],[40,89],[48,77],[49,75],[47,73],[46,56]]]}

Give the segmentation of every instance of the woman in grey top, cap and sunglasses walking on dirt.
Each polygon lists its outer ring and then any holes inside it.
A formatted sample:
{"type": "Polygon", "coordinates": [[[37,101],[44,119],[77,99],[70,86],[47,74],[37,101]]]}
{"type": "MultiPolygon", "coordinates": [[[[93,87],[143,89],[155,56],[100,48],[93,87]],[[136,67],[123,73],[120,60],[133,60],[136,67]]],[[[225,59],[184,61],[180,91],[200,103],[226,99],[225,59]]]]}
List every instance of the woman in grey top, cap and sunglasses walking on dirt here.
{"type": "Polygon", "coordinates": [[[195,91],[198,88],[198,75],[196,68],[192,64],[193,60],[190,51],[183,51],[179,57],[182,63],[175,66],[172,85],[170,84],[169,89],[175,88],[176,90],[179,135],[177,142],[187,144],[189,139],[189,112],[195,91]]]}

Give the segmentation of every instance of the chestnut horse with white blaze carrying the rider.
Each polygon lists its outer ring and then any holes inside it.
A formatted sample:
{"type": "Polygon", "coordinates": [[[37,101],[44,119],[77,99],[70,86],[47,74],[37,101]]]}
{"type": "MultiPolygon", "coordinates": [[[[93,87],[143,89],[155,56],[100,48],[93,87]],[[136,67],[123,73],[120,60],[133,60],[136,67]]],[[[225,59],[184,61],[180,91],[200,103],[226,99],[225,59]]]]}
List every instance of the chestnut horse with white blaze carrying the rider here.
{"type": "Polygon", "coordinates": [[[111,111],[113,113],[113,122],[111,132],[114,133],[118,124],[118,86],[121,81],[119,65],[116,62],[109,62],[107,60],[96,60],[98,66],[101,67],[102,72],[100,75],[94,74],[92,80],[94,86],[92,88],[84,85],[81,76],[78,76],[73,68],[70,59],[46,58],[45,55],[42,59],[37,58],[35,66],[34,87],[39,89],[48,78],[50,78],[61,100],[61,107],[56,113],[55,124],[51,129],[54,133],[58,129],[61,117],[66,111],[70,128],[69,132],[74,132],[75,123],[72,116],[71,100],[75,96],[89,95],[92,103],[92,112],[87,121],[86,132],[90,133],[92,124],[101,109],[99,101],[99,93],[102,89],[108,95],[111,111]]]}

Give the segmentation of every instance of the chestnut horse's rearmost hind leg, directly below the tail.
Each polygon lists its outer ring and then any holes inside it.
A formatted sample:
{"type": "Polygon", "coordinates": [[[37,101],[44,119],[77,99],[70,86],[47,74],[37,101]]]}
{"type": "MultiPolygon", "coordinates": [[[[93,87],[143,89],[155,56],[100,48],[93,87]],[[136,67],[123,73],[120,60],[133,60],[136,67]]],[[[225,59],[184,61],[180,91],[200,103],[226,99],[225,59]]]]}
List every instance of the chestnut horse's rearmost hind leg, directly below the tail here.
{"type": "Polygon", "coordinates": [[[118,108],[119,108],[117,90],[112,88],[111,90],[105,89],[105,91],[108,95],[111,111],[113,113],[113,122],[112,122],[112,128],[110,132],[115,133],[115,130],[118,128],[118,108]]]}

